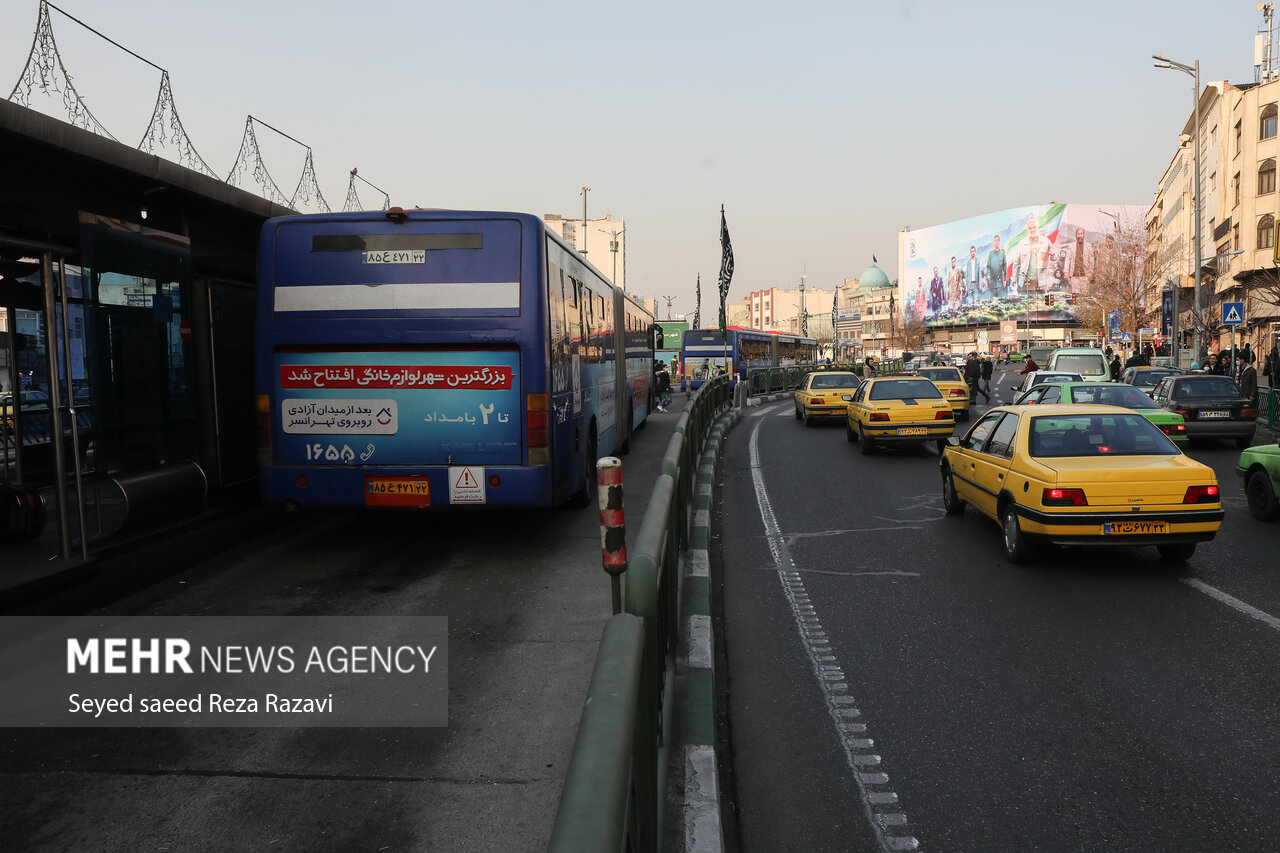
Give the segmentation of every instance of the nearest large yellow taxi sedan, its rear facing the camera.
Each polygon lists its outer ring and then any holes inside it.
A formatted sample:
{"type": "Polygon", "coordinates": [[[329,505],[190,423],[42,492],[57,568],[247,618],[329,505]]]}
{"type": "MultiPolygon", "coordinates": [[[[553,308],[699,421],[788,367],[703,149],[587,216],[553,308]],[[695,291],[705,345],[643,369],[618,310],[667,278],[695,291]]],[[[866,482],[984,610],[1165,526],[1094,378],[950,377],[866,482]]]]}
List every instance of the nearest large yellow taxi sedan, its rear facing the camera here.
{"type": "Polygon", "coordinates": [[[1153,544],[1184,561],[1222,525],[1213,469],[1119,406],[1001,406],[943,448],[942,503],[1004,529],[1010,562],[1041,543],[1153,544]]]}

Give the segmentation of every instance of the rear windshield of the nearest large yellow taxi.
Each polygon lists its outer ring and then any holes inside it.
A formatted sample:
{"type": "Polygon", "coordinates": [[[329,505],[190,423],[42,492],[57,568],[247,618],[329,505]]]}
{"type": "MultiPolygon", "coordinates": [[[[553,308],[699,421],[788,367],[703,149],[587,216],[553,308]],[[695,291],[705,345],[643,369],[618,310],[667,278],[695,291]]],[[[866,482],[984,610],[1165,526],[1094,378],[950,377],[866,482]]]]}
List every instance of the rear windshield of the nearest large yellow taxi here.
{"type": "Polygon", "coordinates": [[[1032,456],[1176,456],[1169,438],[1142,415],[1091,414],[1032,418],[1032,456]]]}

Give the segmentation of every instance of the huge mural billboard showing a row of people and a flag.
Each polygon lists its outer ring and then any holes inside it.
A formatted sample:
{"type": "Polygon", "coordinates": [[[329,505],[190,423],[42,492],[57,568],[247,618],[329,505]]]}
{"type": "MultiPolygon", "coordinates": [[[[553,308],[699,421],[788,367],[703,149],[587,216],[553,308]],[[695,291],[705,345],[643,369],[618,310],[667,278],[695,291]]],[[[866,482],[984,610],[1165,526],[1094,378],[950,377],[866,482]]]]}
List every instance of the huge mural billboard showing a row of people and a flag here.
{"type": "Polygon", "coordinates": [[[1075,295],[1120,251],[1117,228],[1140,225],[1146,211],[1033,205],[905,232],[899,298],[928,327],[1075,321],[1075,295]]]}

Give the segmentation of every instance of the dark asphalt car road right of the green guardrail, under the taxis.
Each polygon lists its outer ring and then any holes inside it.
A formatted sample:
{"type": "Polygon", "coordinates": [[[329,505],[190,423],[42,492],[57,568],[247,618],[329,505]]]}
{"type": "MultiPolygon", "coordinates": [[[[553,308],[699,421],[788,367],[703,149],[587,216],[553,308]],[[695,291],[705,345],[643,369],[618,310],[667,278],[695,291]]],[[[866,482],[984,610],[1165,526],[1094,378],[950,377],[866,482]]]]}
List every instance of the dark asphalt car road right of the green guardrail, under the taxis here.
{"type": "Polygon", "coordinates": [[[1012,566],[932,448],[751,410],[713,519],[740,849],[1280,849],[1280,525],[1189,452],[1228,516],[1185,566],[1012,566]]]}

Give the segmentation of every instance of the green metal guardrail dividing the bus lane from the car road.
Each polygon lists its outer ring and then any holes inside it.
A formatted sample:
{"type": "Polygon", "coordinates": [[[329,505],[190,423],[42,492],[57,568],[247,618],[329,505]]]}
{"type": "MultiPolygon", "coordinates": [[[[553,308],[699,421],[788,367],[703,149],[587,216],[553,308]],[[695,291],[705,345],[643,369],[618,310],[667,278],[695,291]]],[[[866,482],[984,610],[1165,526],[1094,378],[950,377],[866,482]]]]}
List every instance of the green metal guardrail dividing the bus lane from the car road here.
{"type": "Polygon", "coordinates": [[[676,421],[639,533],[627,544],[625,612],[605,624],[595,657],[548,844],[554,853],[662,847],[694,475],[712,424],[728,405],[728,377],[694,392],[676,421]]]}

